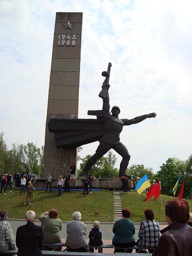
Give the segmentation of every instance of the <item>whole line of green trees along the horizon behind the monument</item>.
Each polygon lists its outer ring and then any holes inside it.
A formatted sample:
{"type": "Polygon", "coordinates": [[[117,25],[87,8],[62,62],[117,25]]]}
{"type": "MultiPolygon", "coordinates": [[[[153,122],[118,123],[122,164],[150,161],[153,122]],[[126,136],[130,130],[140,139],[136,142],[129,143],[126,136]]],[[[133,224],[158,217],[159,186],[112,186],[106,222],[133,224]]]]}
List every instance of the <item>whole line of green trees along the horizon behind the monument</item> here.
{"type": "MultiPolygon", "coordinates": [[[[84,170],[84,166],[92,155],[87,155],[81,158],[79,153],[82,147],[77,148],[77,160],[80,161],[80,168],[77,171],[79,175],[84,170]]],[[[15,173],[28,171],[32,174],[42,176],[43,169],[44,146],[37,147],[33,142],[23,144],[12,144],[11,149],[7,149],[6,143],[3,140],[3,133],[0,133],[0,173],[15,173]]],[[[96,164],[91,168],[89,174],[95,177],[112,178],[119,176],[119,170],[115,167],[117,157],[110,150],[106,157],[97,160],[96,164]]],[[[160,166],[157,173],[153,172],[152,168],[145,168],[143,164],[133,164],[126,171],[132,175],[133,180],[137,177],[142,178],[147,174],[151,182],[155,179],[161,182],[161,192],[164,195],[173,195],[172,189],[181,176],[180,184],[178,185],[179,193],[180,186],[184,180],[184,197],[192,198],[192,155],[187,160],[179,158],[168,158],[168,160],[160,166]]],[[[176,195],[177,195],[176,193],[176,195]]]]}

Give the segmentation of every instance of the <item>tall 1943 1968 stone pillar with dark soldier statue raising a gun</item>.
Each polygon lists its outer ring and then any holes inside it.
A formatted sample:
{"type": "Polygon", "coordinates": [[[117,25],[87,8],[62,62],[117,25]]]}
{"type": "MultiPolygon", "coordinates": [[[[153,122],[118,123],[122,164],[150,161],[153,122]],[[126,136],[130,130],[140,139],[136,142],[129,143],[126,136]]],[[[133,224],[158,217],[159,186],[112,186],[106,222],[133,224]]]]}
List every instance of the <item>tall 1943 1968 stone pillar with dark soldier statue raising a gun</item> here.
{"type": "MultiPolygon", "coordinates": [[[[102,110],[88,110],[88,115],[94,115],[96,119],[78,119],[82,18],[82,13],[56,14],[45,134],[44,178],[49,172],[53,178],[58,178],[60,174],[64,176],[71,163],[76,162],[76,148],[95,141],[100,144],[96,153],[87,161],[82,176],[87,176],[96,161],[112,148],[122,157],[119,171],[121,177],[130,160],[126,146],[120,142],[123,126],[156,117],[153,112],[133,119],[119,119],[118,106],[113,106],[110,114],[108,91],[111,63],[108,63],[108,71],[102,72],[105,80],[98,95],[103,100],[102,110]]],[[[118,178],[106,180],[107,182],[103,181],[106,188],[121,186],[118,178]]],[[[99,182],[97,181],[97,186],[103,187],[99,182]]],[[[81,180],[75,179],[72,185],[80,184],[81,180]]]]}

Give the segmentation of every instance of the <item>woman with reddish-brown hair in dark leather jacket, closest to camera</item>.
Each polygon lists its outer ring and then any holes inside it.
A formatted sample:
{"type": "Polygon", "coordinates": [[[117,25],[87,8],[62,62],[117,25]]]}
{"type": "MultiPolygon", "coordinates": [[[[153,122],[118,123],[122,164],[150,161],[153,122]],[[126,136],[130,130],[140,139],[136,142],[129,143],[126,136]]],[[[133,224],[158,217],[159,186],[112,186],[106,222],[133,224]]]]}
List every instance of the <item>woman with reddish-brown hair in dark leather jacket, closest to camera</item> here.
{"type": "Polygon", "coordinates": [[[162,235],[153,256],[192,255],[192,227],[187,224],[190,217],[188,202],[182,198],[168,200],[165,217],[168,227],[160,231],[162,235]]]}

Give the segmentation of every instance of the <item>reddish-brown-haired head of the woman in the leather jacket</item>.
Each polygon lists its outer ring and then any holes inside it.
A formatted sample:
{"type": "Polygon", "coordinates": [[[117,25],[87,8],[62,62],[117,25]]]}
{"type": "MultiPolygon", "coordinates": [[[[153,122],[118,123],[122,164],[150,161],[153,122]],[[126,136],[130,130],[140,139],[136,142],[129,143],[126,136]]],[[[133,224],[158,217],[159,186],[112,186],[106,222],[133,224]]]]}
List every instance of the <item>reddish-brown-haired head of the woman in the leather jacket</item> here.
{"type": "Polygon", "coordinates": [[[173,198],[167,201],[165,215],[168,225],[177,220],[186,223],[190,218],[189,205],[183,198],[173,198]]]}

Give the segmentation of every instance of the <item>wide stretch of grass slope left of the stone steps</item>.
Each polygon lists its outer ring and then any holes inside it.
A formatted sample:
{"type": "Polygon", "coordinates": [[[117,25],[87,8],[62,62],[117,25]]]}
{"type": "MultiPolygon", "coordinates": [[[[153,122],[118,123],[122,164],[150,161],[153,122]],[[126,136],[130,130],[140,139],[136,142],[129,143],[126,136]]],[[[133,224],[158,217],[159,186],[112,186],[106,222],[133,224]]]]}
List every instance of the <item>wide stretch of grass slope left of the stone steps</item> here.
{"type": "Polygon", "coordinates": [[[31,200],[31,206],[24,205],[25,195],[20,195],[19,189],[7,192],[7,195],[0,195],[0,209],[8,211],[8,218],[24,219],[28,210],[36,212],[36,218],[51,208],[57,209],[61,220],[71,220],[74,211],[80,211],[82,221],[112,222],[114,219],[113,193],[109,191],[93,191],[92,194],[81,196],[82,191],[63,193],[60,197],[58,192],[52,193],[43,190],[36,190],[31,200]],[[99,215],[95,215],[96,210],[99,215]]]}

